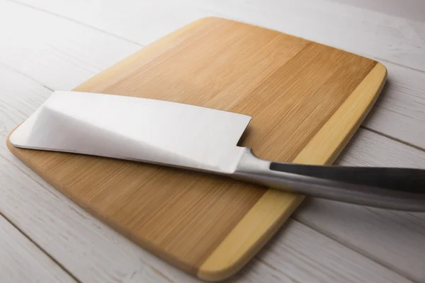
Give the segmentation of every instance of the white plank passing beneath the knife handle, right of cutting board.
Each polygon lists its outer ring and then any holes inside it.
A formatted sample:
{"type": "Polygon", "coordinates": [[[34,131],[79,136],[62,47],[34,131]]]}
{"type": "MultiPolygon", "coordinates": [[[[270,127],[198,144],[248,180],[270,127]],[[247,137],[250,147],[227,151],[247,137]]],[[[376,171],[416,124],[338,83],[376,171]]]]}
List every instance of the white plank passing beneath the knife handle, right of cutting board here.
{"type": "MultiPolygon", "coordinates": [[[[425,152],[362,130],[337,163],[425,168],[425,152]]],[[[294,218],[416,282],[425,279],[425,213],[312,199],[294,218]]]]}

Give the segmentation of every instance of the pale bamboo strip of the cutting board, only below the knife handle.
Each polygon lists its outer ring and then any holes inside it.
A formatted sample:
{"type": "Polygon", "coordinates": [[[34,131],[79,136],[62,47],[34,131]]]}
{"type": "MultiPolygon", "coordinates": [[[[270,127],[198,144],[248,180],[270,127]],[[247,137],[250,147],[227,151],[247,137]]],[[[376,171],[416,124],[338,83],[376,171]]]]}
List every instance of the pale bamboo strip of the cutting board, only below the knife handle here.
{"type": "Polygon", "coordinates": [[[220,281],[236,274],[278,231],[304,197],[267,190],[198,268],[197,276],[220,281]]]}

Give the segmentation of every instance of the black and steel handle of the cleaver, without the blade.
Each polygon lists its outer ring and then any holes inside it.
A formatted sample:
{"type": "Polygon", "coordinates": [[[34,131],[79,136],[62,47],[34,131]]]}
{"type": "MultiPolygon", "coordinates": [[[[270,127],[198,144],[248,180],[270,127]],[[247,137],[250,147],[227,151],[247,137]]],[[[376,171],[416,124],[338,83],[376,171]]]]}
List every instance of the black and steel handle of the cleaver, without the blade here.
{"type": "Polygon", "coordinates": [[[233,177],[312,197],[425,212],[422,169],[278,163],[257,158],[246,149],[233,177]]]}

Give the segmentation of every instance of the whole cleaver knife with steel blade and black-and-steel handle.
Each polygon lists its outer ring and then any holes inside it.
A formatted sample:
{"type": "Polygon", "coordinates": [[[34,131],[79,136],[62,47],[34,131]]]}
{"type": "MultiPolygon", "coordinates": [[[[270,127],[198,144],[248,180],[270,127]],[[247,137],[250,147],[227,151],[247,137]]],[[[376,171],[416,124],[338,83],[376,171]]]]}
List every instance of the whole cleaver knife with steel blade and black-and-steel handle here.
{"type": "Polygon", "coordinates": [[[163,100],[55,91],[9,141],[24,149],[156,163],[312,197],[425,212],[425,170],[266,161],[237,146],[249,120],[163,100]]]}

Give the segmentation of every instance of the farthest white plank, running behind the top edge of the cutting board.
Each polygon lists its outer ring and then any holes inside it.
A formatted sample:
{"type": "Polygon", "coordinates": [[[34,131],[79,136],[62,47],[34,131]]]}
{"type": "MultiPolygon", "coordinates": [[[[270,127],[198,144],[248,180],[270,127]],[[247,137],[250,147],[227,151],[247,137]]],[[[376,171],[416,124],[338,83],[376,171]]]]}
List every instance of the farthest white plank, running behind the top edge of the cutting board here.
{"type": "Polygon", "coordinates": [[[142,45],[197,18],[222,16],[425,71],[421,22],[329,1],[19,1],[142,45]]]}

